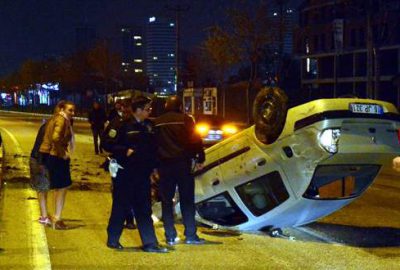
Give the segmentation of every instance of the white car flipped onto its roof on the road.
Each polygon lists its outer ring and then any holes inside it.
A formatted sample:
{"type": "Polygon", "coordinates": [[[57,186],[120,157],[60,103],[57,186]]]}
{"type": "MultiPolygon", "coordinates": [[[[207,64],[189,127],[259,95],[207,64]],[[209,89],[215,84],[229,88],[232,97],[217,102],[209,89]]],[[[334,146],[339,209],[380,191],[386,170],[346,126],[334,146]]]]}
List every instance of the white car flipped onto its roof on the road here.
{"type": "Polygon", "coordinates": [[[357,199],[400,154],[390,103],[321,99],[286,109],[263,89],[255,125],[206,150],[196,172],[198,220],[238,230],[310,223],[357,199]]]}

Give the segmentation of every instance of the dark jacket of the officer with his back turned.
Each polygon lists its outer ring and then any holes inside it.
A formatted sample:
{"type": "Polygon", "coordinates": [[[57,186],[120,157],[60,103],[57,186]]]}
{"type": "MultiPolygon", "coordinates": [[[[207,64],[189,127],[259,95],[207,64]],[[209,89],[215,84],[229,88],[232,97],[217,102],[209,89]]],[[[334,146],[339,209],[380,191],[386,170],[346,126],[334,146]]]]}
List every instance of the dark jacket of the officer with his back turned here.
{"type": "Polygon", "coordinates": [[[155,120],[160,161],[196,158],[205,160],[203,143],[195,132],[192,117],[178,111],[167,112],[155,120]]]}

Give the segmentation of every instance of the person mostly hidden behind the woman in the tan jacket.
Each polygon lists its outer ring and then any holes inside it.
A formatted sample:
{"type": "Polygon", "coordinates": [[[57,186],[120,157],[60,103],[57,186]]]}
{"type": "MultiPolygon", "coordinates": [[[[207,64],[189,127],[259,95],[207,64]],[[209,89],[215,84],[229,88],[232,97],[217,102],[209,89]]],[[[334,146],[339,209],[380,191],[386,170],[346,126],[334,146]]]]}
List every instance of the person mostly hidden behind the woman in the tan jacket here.
{"type": "MultiPolygon", "coordinates": [[[[60,112],[60,106],[63,106],[63,101],[57,104],[54,109],[54,115],[60,112]]],[[[50,189],[49,172],[46,167],[46,160],[50,153],[49,147],[46,153],[39,151],[40,146],[43,143],[44,135],[47,125],[52,121],[50,118],[44,121],[39,128],[38,134],[36,135],[35,143],[31,151],[31,158],[29,160],[31,186],[37,192],[39,206],[40,206],[40,217],[39,223],[50,226],[51,220],[47,212],[47,193],[50,189]]]]}

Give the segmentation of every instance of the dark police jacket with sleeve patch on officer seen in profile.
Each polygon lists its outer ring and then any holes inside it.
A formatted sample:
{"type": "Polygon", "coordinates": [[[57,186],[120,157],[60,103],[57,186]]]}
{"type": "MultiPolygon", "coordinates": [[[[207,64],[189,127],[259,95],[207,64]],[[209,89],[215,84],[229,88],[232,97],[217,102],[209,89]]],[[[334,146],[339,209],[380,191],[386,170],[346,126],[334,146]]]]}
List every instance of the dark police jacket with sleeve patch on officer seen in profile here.
{"type": "Polygon", "coordinates": [[[134,117],[116,117],[101,137],[103,149],[110,152],[122,167],[153,169],[158,166],[157,142],[150,120],[139,122],[134,117]],[[129,157],[128,149],[134,151],[129,157]]]}

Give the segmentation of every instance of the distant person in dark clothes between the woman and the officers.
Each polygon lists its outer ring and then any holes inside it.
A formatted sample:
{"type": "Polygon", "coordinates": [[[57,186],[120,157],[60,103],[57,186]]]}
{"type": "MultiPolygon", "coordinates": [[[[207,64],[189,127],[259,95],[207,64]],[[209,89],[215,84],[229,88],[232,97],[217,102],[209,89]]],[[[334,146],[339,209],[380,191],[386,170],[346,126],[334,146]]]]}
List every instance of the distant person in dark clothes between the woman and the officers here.
{"type": "Polygon", "coordinates": [[[99,149],[100,135],[104,131],[104,124],[107,121],[105,110],[100,106],[100,103],[95,101],[93,103],[93,109],[89,112],[89,123],[92,128],[94,152],[96,155],[103,153],[103,150],[99,149]]]}

